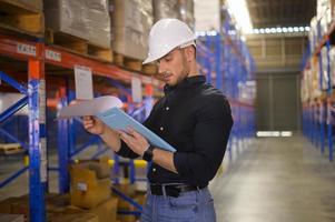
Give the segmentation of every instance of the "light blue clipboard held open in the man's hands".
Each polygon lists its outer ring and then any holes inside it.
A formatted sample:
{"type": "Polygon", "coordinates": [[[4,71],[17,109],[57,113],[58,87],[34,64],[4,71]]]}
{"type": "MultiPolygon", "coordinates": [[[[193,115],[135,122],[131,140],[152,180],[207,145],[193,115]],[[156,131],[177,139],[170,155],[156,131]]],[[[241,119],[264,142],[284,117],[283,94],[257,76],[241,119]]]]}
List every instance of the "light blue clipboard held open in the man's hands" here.
{"type": "Polygon", "coordinates": [[[131,127],[138,133],[144,135],[150,142],[150,144],[160,148],[162,150],[176,152],[176,149],[173,148],[169,143],[167,143],[165,140],[159,138],[157,134],[155,134],[152,131],[150,131],[141,123],[137,122],[134,118],[128,115],[119,108],[111,108],[96,115],[111,129],[126,131],[127,127],[131,127]]]}

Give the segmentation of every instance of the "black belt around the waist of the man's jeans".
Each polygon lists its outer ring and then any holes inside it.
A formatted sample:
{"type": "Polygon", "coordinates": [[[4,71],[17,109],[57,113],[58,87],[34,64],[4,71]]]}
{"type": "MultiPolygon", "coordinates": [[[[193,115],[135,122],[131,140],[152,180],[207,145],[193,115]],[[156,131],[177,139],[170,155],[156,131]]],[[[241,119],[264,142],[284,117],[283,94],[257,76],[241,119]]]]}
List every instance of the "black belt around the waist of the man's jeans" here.
{"type": "Polygon", "coordinates": [[[206,188],[207,185],[187,185],[187,184],[152,184],[150,183],[150,192],[152,195],[168,195],[178,198],[180,193],[196,191],[206,188]]]}

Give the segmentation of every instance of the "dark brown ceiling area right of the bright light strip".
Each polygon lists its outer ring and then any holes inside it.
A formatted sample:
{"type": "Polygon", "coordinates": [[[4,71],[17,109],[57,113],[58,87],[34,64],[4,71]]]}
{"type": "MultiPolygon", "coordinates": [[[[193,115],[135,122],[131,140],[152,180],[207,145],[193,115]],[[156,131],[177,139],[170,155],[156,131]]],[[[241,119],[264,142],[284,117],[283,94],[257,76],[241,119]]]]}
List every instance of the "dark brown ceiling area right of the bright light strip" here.
{"type": "Polygon", "coordinates": [[[254,29],[306,27],[316,14],[316,0],[246,0],[254,29]]]}

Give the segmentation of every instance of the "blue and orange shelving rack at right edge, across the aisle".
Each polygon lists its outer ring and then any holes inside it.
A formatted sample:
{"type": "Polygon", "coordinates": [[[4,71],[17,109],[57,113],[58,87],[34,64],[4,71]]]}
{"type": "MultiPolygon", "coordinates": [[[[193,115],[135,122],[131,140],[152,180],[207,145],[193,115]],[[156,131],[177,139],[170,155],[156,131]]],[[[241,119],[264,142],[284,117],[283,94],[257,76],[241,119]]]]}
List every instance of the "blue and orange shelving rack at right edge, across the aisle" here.
{"type": "Polygon", "coordinates": [[[316,30],[317,41],[309,42],[312,47],[308,47],[305,57],[303,58],[303,70],[311,69],[311,58],[317,58],[319,62],[319,89],[323,89],[323,60],[326,60],[326,73],[327,73],[327,89],[322,91],[322,95],[309,100],[308,102],[303,104],[303,133],[307,137],[311,142],[319,148],[322,155],[325,154],[326,147],[328,148],[327,154],[328,160],[333,161],[334,159],[334,94],[333,94],[333,85],[332,85],[332,73],[331,73],[331,58],[329,50],[331,47],[335,44],[335,22],[333,21],[329,24],[328,31],[322,36],[321,28],[318,23],[318,29],[316,30]],[[314,48],[315,47],[315,48],[314,48]],[[327,53],[324,58],[321,53],[322,49],[326,47],[327,53]],[[314,49],[311,52],[309,49],[314,49]]]}

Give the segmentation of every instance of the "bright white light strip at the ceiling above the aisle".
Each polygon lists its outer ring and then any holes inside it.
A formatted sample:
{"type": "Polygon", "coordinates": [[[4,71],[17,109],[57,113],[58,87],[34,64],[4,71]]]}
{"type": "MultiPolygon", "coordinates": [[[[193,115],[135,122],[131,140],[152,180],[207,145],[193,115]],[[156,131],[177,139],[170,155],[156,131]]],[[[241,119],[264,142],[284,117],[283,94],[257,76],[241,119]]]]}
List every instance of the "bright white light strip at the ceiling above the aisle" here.
{"type": "Polygon", "coordinates": [[[246,0],[227,0],[227,4],[242,31],[244,33],[253,33],[253,24],[246,0]]]}

